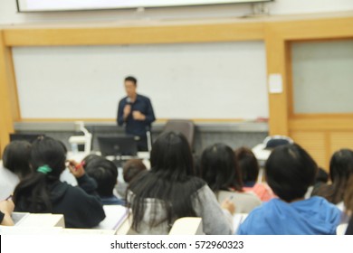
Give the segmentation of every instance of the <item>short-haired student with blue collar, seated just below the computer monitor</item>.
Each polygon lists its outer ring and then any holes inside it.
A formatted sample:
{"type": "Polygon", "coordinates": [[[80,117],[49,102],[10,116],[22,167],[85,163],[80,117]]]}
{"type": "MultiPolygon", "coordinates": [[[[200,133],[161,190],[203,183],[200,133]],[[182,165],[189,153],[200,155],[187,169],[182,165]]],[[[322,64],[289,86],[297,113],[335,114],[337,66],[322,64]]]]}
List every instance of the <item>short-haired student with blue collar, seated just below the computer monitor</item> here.
{"type": "Polygon", "coordinates": [[[119,200],[113,194],[118,178],[118,168],[113,162],[105,158],[97,158],[86,164],[85,170],[97,182],[97,192],[100,195],[100,201],[103,205],[125,204],[124,201],[119,200]]]}

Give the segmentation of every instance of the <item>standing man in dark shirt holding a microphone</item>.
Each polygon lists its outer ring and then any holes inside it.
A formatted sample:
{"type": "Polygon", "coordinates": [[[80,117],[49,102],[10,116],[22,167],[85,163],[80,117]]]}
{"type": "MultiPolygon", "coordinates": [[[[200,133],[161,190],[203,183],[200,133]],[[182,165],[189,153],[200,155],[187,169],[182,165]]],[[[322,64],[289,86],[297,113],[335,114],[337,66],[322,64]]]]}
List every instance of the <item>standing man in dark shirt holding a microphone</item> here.
{"type": "Polygon", "coordinates": [[[124,86],[127,97],[119,101],[118,125],[125,123],[125,132],[138,138],[138,150],[148,151],[147,131],[156,120],[151,101],[136,92],[138,80],[134,77],[127,77],[124,86]]]}

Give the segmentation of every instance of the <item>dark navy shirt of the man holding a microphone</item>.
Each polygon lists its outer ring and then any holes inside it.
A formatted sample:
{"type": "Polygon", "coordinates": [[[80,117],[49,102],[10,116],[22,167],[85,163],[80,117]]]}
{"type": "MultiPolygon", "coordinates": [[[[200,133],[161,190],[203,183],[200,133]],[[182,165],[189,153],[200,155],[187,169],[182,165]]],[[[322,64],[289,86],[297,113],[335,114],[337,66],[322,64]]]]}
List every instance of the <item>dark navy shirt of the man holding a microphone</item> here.
{"type": "Polygon", "coordinates": [[[153,112],[152,104],[149,98],[138,95],[135,102],[129,103],[128,97],[122,98],[119,101],[119,108],[118,108],[118,117],[117,122],[119,126],[124,124],[124,108],[126,105],[131,106],[131,113],[126,118],[125,123],[125,132],[128,135],[132,136],[140,136],[146,138],[147,129],[150,128],[151,123],[156,120],[155,114],[153,112]],[[132,117],[133,111],[139,111],[143,115],[146,116],[145,120],[135,120],[132,117]]]}

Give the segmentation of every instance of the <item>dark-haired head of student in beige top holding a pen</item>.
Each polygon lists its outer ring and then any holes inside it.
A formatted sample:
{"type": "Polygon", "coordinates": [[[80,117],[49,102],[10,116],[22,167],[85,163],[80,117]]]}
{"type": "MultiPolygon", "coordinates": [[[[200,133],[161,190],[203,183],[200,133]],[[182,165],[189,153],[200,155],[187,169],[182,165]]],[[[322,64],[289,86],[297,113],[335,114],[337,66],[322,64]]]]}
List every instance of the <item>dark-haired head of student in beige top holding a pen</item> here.
{"type": "Polygon", "coordinates": [[[201,155],[201,177],[214,192],[229,188],[242,191],[234,151],[228,145],[215,144],[205,148],[201,155]]]}

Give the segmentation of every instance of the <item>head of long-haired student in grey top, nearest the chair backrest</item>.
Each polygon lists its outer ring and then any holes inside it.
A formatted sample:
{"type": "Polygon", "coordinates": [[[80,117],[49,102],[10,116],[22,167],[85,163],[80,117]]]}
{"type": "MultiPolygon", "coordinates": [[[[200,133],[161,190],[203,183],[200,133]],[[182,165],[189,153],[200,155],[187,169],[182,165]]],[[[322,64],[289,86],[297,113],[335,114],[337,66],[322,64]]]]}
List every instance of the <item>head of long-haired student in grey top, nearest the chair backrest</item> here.
{"type": "Polygon", "coordinates": [[[152,145],[151,170],[173,178],[194,175],[193,156],[186,137],[177,132],[166,132],[152,145]]]}

